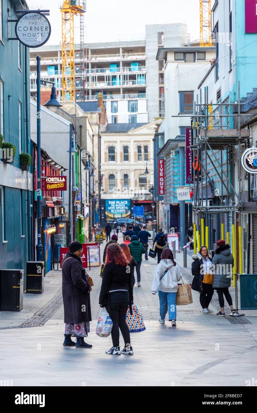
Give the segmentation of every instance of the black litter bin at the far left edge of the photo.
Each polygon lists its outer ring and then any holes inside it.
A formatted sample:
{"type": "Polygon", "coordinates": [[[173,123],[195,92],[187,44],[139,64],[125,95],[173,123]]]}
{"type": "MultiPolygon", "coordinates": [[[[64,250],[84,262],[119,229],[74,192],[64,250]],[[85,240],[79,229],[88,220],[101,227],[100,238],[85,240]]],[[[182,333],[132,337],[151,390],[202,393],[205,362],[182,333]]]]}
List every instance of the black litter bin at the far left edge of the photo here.
{"type": "Polygon", "coordinates": [[[23,309],[24,270],[0,270],[0,311],[23,309]]]}

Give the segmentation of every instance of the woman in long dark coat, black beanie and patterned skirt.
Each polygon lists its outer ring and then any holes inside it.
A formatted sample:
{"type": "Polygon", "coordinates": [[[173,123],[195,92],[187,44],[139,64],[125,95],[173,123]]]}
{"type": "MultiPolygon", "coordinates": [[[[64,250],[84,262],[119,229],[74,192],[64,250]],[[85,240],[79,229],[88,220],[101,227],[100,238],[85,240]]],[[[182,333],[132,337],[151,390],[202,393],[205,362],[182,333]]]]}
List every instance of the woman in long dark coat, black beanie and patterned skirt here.
{"type": "Polygon", "coordinates": [[[81,260],[83,248],[78,241],[71,242],[68,247],[69,251],[61,262],[65,323],[63,345],[91,349],[92,345],[84,342],[84,337],[90,332],[92,317],[90,285],[81,260]],[[76,337],[76,343],[71,337],[76,337]]]}

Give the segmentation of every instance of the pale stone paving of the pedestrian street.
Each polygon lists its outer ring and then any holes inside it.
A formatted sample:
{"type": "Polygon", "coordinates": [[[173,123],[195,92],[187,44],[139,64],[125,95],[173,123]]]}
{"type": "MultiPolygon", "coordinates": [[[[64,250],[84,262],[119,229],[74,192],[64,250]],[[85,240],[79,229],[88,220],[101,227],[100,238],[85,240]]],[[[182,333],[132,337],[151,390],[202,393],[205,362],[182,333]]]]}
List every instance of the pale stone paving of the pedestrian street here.
{"type": "MultiPolygon", "coordinates": [[[[182,265],[182,254],[176,261],[182,265]]],[[[134,287],[134,303],[146,324],[144,332],[131,335],[134,356],[106,355],[111,337],[95,334],[99,267],[90,271],[93,321],[87,341],[93,348],[62,346],[61,271],[51,271],[42,295],[25,294],[19,313],[0,312],[0,380],[12,380],[14,386],[245,386],[246,380],[256,380],[257,312],[244,311],[246,316],[237,319],[217,317],[215,294],[210,305],[215,312],[203,314],[199,294],[193,291],[193,304],[177,307],[177,328],[168,321],[160,325],[158,295],[151,294],[155,268],[153,259],[143,261],[142,286],[134,287]]],[[[191,281],[190,268],[181,269],[184,280],[191,281]]]]}

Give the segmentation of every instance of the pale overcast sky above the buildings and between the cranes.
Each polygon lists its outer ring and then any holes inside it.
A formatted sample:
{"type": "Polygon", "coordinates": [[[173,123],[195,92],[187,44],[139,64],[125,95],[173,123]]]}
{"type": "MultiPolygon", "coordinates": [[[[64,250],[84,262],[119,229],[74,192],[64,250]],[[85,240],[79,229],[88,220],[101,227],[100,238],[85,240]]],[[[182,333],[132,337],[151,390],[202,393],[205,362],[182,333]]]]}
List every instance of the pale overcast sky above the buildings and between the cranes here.
{"type": "MultiPolygon", "coordinates": [[[[52,33],[47,44],[61,43],[61,0],[27,0],[30,9],[50,9],[52,33]]],[[[87,0],[86,42],[144,38],[146,24],[186,23],[191,40],[199,39],[199,0],[87,0]]],[[[74,17],[75,43],[80,18],[74,17]]]]}

